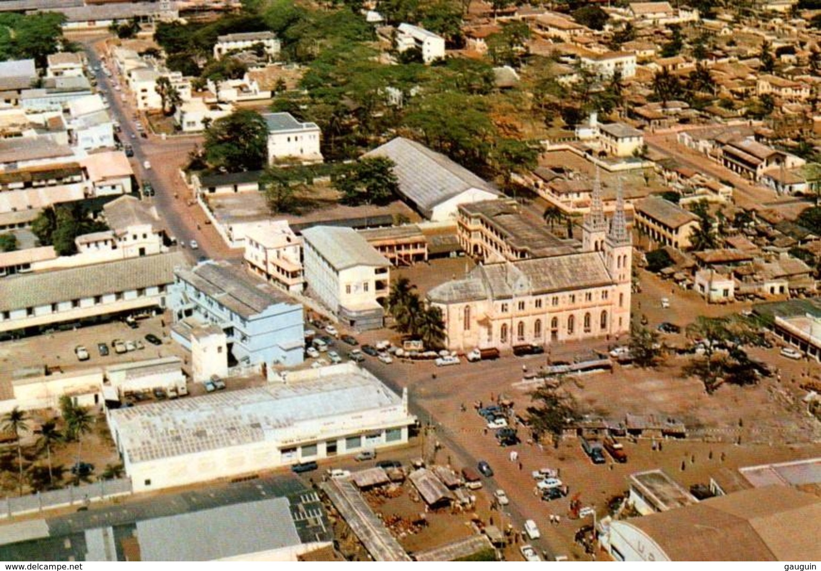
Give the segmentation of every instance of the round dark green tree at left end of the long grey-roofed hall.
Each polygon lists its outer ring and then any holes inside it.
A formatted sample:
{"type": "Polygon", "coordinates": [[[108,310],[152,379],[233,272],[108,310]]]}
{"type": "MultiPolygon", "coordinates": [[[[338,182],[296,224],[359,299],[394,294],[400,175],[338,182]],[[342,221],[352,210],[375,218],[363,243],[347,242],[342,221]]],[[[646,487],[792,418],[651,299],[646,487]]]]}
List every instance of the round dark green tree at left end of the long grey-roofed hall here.
{"type": "Polygon", "coordinates": [[[399,181],[393,173],[394,163],[385,157],[362,158],[349,171],[337,177],[334,185],[342,192],[342,201],[351,206],[390,203],[399,192],[399,181]]]}

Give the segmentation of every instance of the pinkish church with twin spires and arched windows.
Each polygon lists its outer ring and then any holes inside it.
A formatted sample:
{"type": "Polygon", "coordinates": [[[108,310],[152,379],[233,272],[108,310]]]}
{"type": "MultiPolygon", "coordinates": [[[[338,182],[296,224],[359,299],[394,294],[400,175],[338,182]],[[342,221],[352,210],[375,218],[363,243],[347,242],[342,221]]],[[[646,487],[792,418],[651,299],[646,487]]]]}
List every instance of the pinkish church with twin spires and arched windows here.
{"type": "Polygon", "coordinates": [[[452,350],[511,349],[630,331],[632,244],[618,199],[608,231],[596,185],[582,249],[475,267],[428,292],[452,350]]]}

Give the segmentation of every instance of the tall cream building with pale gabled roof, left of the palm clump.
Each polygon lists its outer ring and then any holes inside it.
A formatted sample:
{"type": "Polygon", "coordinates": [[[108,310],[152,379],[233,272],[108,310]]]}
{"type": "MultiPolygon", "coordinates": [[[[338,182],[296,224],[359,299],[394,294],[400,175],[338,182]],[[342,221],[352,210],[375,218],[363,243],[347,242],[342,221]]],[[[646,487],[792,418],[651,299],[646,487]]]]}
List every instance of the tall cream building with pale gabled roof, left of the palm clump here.
{"type": "Polygon", "coordinates": [[[309,291],[349,327],[383,327],[391,263],[351,228],[314,226],[302,238],[309,291]]]}

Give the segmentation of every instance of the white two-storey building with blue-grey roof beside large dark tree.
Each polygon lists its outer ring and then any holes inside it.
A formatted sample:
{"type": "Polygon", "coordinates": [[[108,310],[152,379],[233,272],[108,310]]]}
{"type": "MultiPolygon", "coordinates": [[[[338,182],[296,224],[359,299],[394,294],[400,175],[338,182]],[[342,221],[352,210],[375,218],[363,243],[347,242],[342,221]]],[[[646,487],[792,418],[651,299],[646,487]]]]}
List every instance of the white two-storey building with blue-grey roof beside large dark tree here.
{"type": "Polygon", "coordinates": [[[263,113],[268,125],[268,164],[277,161],[322,162],[316,123],[300,123],[291,113],[263,113]]]}

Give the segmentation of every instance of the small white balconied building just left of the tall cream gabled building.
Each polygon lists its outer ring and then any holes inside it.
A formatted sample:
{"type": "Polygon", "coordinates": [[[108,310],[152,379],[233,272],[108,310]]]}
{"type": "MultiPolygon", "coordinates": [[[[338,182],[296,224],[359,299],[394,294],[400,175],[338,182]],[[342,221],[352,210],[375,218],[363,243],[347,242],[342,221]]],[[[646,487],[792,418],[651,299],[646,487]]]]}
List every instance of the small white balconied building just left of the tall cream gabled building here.
{"type": "Polygon", "coordinates": [[[285,290],[301,293],[305,288],[302,239],[287,220],[258,222],[245,231],[245,263],[251,272],[285,290]]]}

